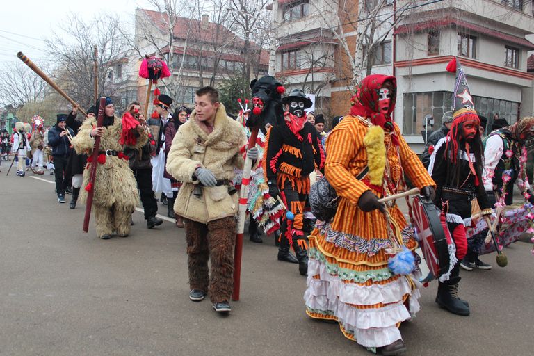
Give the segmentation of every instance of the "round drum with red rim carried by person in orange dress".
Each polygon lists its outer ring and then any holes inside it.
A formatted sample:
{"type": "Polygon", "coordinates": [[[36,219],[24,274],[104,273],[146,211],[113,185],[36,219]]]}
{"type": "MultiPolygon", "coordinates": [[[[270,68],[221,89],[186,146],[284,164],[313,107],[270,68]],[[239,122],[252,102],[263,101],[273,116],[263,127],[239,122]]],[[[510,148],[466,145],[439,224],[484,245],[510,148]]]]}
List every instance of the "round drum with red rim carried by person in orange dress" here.
{"type": "Polygon", "coordinates": [[[425,257],[430,273],[437,279],[448,272],[450,257],[448,245],[453,243],[451,234],[446,227],[445,216],[434,203],[421,195],[416,195],[412,201],[412,214],[416,238],[425,257]]]}

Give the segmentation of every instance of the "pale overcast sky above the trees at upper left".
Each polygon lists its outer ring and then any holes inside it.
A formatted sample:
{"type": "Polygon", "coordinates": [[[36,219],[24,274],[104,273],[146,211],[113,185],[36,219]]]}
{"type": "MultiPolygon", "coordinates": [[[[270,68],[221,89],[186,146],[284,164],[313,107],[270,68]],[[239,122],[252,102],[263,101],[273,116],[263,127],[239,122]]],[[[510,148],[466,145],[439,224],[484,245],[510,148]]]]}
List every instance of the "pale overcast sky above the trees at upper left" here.
{"type": "Polygon", "coordinates": [[[18,51],[35,63],[45,51],[45,38],[69,13],[92,18],[99,13],[116,13],[133,24],[136,8],[152,8],[146,0],[19,0],[4,3],[0,10],[0,67],[19,60],[18,51]]]}

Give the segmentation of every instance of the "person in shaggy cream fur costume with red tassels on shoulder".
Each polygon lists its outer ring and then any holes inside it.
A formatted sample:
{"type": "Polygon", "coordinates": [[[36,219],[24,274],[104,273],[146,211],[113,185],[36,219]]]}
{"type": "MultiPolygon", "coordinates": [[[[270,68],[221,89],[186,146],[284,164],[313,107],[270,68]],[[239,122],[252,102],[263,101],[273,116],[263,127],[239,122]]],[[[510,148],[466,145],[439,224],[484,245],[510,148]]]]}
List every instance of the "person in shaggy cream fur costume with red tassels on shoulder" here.
{"type": "Polygon", "coordinates": [[[147,142],[148,133],[134,118],[115,116],[113,101],[106,97],[102,127],[97,127],[96,118],[86,118],[72,140],[76,153],[90,156],[96,136],[100,136],[100,151],[97,161],[88,162],[88,169],[83,172],[85,188],[81,191],[80,201],[86,202],[88,191],[93,189],[92,211],[95,213],[97,236],[107,240],[115,232],[120,237],[126,237],[139,195],[136,179],[127,162],[128,156],[122,150],[124,147],[140,149],[147,142]],[[89,165],[92,164],[97,164],[97,170],[94,185],[89,185],[89,165]]]}

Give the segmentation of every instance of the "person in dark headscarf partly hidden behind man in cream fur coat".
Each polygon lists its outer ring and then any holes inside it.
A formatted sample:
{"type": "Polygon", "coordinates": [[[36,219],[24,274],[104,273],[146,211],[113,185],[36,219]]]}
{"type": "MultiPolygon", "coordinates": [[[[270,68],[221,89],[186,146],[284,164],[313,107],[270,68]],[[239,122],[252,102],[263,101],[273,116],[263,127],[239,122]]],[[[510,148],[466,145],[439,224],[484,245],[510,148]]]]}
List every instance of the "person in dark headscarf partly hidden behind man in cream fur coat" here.
{"type": "MultiPolygon", "coordinates": [[[[185,124],[187,121],[188,116],[191,114],[188,108],[186,106],[180,106],[175,110],[175,112],[171,115],[169,121],[167,124],[165,124],[165,128],[163,129],[165,134],[165,165],[167,165],[167,159],[170,151],[170,147],[172,146],[172,140],[175,138],[175,135],[180,128],[182,124],[185,124]]],[[[178,191],[181,186],[181,182],[177,181],[170,175],[167,170],[165,169],[165,173],[163,174],[163,177],[170,179],[170,188],[172,189],[172,197],[167,197],[167,216],[169,218],[175,219],[175,224],[177,227],[184,227],[184,219],[181,216],[177,216],[175,214],[175,200],[178,195],[178,191]]]]}

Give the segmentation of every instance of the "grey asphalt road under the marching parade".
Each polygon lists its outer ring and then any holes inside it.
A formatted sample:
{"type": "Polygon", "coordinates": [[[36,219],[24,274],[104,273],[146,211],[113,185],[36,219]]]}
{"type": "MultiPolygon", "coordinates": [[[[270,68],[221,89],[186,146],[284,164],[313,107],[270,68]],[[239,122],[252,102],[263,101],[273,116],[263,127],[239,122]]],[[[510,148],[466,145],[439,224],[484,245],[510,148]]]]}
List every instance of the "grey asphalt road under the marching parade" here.
{"type": "MultiPolygon", "coordinates": [[[[276,261],[272,240],[245,241],[241,301],[222,317],[188,300],[183,229],[148,230],[135,213],[129,238],[99,240],[53,184],[1,168],[0,355],[371,355],[307,318],[305,278],[276,261]]],[[[522,242],[505,252],[506,268],[490,255],[492,270],[462,271],[469,317],[439,309],[435,284],[423,289],[401,326],[407,355],[533,355],[534,257],[522,242]]]]}

